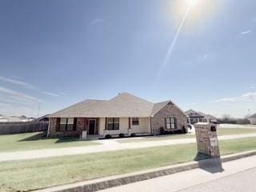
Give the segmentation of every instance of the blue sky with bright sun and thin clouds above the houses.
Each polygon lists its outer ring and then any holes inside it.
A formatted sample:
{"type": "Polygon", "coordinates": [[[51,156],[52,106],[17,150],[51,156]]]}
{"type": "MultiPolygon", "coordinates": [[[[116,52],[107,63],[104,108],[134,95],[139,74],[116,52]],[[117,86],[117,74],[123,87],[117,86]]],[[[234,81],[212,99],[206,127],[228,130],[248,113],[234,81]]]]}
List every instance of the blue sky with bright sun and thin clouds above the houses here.
{"type": "Polygon", "coordinates": [[[187,1],[2,0],[0,114],[49,114],[119,92],[256,113],[256,2],[198,0],[184,18],[187,1]]]}

